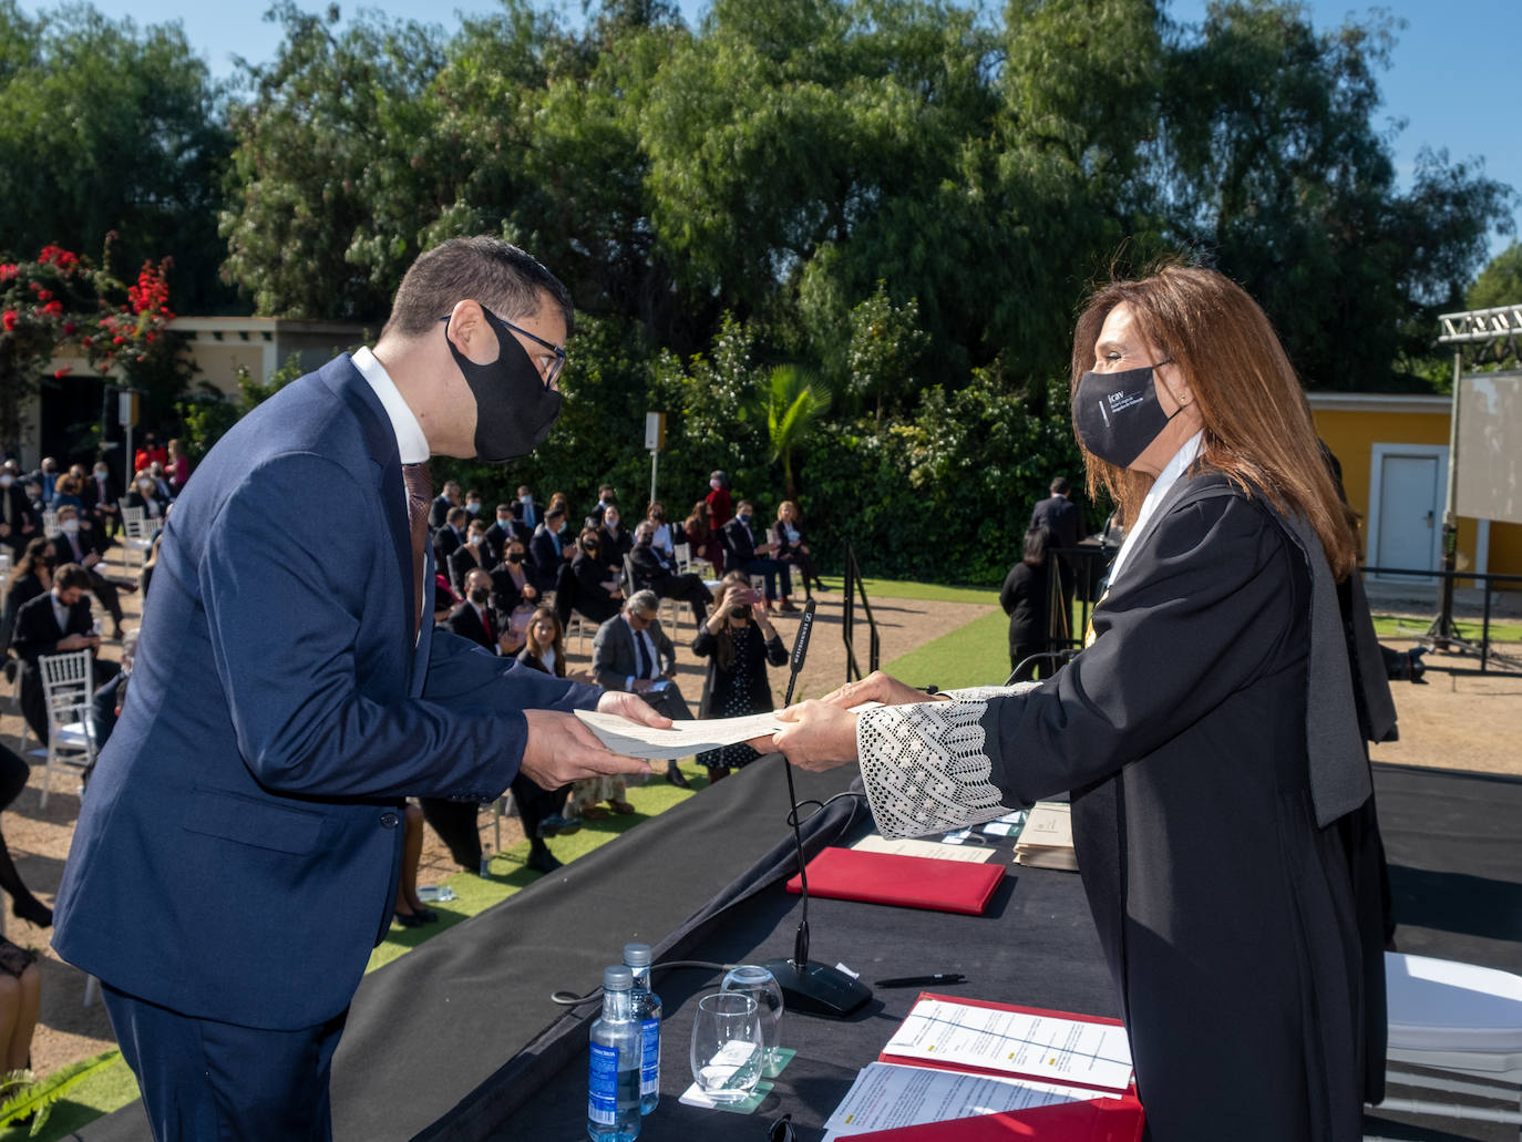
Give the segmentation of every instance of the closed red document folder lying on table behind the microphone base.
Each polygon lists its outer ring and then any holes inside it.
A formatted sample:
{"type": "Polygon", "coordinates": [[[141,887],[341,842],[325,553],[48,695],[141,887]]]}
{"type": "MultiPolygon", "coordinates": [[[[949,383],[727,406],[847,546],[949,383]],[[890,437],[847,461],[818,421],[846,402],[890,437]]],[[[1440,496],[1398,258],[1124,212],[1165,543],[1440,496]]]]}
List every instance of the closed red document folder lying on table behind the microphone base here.
{"type": "MultiPolygon", "coordinates": [[[[1003,879],[1003,865],[858,853],[854,848],[826,848],[808,862],[810,895],[973,917],[983,915],[1003,879]]],[[[787,891],[801,891],[799,877],[787,882],[787,891]]]]}

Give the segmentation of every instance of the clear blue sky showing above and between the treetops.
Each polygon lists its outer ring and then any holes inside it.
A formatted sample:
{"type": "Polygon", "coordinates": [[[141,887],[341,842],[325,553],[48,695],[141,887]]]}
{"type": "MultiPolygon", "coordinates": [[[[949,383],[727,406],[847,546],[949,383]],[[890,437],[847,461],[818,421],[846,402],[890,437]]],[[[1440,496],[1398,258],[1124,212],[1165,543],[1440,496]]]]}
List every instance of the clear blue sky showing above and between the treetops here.
{"type": "MultiPolygon", "coordinates": [[[[250,62],[269,59],[280,41],[275,24],[265,23],[263,0],[253,3],[189,3],[189,0],[93,0],[94,6],[113,18],[131,15],[140,24],[178,20],[186,38],[207,59],[218,76],[233,73],[233,58],[250,62]]],[[[304,9],[326,11],[326,0],[298,0],[304,9]]],[[[23,0],[23,8],[53,8],[23,0]]],[[[689,23],[699,20],[708,0],[680,0],[689,23]]],[[[1353,6],[1339,0],[1309,0],[1312,23],[1318,27],[1341,24],[1350,14],[1365,15],[1368,6],[1353,6]]],[[[388,15],[458,24],[458,14],[481,14],[496,9],[492,0],[379,0],[365,5],[388,15]]],[[[578,0],[560,5],[574,20],[580,20],[578,0]]],[[[1195,21],[1204,12],[1204,0],[1170,0],[1175,20],[1195,21]]],[[[1485,174],[1522,192],[1522,139],[1516,134],[1516,18],[1517,0],[1393,0],[1387,8],[1406,27],[1391,55],[1390,70],[1380,76],[1385,96],[1380,126],[1394,131],[1396,161],[1406,184],[1423,146],[1446,149],[1455,160],[1482,158],[1485,174]]],[[[347,15],[359,11],[344,3],[347,15]]],[[[1522,209],[1514,221],[1522,222],[1522,209]]],[[[1492,238],[1492,253],[1499,253],[1507,238],[1492,238]]]]}

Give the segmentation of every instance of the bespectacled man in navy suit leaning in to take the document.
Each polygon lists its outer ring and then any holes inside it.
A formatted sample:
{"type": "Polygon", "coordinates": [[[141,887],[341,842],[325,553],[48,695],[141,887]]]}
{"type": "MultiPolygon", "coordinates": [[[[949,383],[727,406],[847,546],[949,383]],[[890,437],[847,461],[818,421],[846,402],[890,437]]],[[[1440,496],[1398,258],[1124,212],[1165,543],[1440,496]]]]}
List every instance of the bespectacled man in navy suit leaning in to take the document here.
{"type": "Polygon", "coordinates": [[[571,713],[665,725],[638,697],[428,621],[423,461],[543,440],[569,324],[524,251],[444,242],[373,352],[244,417],[175,504],[53,936],[100,979],[160,1142],[330,1137],[329,1067],[390,924],[408,795],[648,772],[571,713]]]}

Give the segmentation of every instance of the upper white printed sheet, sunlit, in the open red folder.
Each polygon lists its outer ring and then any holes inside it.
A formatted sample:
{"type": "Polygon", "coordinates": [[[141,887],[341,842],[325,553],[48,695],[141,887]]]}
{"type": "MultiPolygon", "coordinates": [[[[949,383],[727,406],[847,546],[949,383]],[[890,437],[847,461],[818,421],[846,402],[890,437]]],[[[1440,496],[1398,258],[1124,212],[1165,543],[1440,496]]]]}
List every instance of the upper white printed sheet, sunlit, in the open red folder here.
{"type": "Polygon", "coordinates": [[[1131,1084],[1123,1026],[941,999],[915,1003],[883,1054],[1116,1092],[1131,1084]]]}

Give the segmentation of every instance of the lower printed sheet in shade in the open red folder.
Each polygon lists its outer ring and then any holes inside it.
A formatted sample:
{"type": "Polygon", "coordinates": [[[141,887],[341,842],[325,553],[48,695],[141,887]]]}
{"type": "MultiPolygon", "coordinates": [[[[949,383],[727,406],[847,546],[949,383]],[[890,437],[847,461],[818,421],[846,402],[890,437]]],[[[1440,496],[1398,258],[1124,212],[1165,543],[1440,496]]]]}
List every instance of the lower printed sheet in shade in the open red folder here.
{"type": "Polygon", "coordinates": [[[820,1142],[1093,1098],[1119,1096],[1021,1078],[871,1063],[825,1122],[820,1142]]]}

